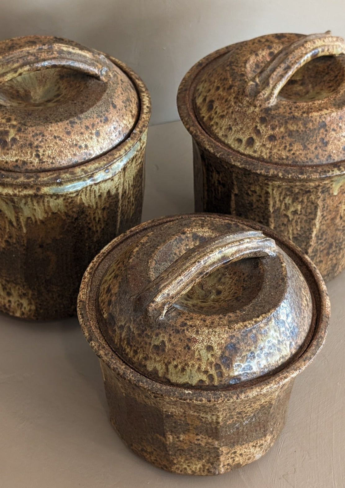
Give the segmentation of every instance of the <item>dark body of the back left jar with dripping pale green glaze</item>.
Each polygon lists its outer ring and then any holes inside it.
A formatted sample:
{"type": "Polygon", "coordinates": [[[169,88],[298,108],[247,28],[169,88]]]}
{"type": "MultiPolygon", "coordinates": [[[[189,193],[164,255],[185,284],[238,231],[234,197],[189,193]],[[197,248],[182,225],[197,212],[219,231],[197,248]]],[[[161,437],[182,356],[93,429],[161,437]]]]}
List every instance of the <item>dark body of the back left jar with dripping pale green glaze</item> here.
{"type": "Polygon", "coordinates": [[[140,223],[146,133],[101,175],[23,191],[0,182],[2,312],[41,320],[75,313],[87,265],[140,223]]]}

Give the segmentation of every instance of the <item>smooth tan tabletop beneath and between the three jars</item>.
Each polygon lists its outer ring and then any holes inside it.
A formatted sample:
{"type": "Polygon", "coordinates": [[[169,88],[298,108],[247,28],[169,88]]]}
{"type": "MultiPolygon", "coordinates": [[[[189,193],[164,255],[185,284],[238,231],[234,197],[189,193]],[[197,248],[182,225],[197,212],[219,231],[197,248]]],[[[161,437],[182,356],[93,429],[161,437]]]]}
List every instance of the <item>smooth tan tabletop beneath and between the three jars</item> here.
{"type": "MultiPolygon", "coordinates": [[[[150,127],[143,220],[193,211],[191,141],[150,127]]],[[[215,477],[154,468],[110,426],[98,359],[77,319],[0,316],[1,488],[345,487],[345,272],[328,284],[326,344],[297,377],[286,426],[259,461],[215,477]]]]}

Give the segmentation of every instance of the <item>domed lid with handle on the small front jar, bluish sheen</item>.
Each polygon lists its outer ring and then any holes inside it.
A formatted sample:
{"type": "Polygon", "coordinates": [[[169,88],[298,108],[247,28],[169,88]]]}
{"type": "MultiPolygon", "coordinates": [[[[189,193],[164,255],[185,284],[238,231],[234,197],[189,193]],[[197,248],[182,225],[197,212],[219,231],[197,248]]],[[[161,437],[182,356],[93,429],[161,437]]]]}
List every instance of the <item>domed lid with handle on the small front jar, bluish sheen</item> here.
{"type": "Polygon", "coordinates": [[[219,389],[303,352],[313,300],[274,240],[211,214],[139,228],[107,246],[91,283],[101,332],[124,363],[161,383],[219,389]]]}

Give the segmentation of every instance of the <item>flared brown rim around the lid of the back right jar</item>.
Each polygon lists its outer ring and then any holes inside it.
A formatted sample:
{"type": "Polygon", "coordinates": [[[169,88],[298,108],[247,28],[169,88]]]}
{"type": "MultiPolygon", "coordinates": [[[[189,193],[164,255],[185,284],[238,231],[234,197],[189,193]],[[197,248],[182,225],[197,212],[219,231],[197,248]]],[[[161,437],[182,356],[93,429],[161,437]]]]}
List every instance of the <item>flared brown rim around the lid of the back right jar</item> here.
{"type": "Polygon", "coordinates": [[[178,112],[184,127],[195,142],[226,163],[264,176],[291,180],[316,180],[344,174],[345,160],[308,166],[304,164],[292,165],[284,162],[269,163],[250,155],[244,155],[219,141],[215,135],[212,137],[206,132],[194,110],[194,92],[198,78],[211,62],[225,54],[229,54],[240,44],[242,42],[230,44],[202,58],[187,71],[179,85],[177,92],[178,112]]]}

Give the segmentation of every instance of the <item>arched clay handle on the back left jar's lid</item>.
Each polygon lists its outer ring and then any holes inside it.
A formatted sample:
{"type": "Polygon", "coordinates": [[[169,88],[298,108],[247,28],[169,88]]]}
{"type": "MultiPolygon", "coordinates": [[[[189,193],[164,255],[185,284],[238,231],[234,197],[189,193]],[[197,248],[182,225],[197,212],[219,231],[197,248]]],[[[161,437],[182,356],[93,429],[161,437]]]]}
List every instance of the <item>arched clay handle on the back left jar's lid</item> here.
{"type": "Polygon", "coordinates": [[[1,55],[0,83],[25,73],[57,67],[81,71],[105,82],[112,77],[112,63],[103,54],[52,40],[1,55]]]}

